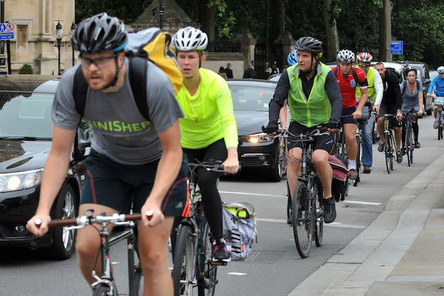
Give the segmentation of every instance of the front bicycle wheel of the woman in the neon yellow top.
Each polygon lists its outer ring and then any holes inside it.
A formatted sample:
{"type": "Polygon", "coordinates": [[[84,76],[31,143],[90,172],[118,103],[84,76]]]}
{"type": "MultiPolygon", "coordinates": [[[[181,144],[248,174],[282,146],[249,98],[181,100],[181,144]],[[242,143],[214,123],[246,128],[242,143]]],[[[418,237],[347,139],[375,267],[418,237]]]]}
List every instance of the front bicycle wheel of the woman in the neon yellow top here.
{"type": "Polygon", "coordinates": [[[180,225],[173,256],[174,295],[193,295],[194,236],[191,227],[180,225]]]}

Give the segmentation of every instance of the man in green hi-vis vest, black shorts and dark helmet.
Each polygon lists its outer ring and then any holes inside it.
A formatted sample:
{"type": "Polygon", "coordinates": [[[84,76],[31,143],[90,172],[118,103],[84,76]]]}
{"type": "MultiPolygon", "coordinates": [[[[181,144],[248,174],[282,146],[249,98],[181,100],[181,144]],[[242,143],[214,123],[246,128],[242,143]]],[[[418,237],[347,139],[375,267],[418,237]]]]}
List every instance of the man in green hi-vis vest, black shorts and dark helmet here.
{"type": "MultiPolygon", "coordinates": [[[[318,125],[336,128],[341,116],[342,100],[338,82],[332,69],[319,61],[323,53],[322,42],[313,37],[301,37],[295,48],[298,50],[298,64],[282,73],[269,104],[269,123],[266,126],[268,134],[275,134],[278,130],[279,112],[287,98],[291,114],[289,131],[293,134],[311,132],[318,125]]],[[[333,134],[316,137],[312,155],[324,189],[325,223],[332,223],[336,219],[336,205],[332,198],[333,172],[328,162],[333,137],[333,134]]],[[[287,180],[290,192],[293,193],[301,172],[302,143],[289,142],[287,180]]]]}

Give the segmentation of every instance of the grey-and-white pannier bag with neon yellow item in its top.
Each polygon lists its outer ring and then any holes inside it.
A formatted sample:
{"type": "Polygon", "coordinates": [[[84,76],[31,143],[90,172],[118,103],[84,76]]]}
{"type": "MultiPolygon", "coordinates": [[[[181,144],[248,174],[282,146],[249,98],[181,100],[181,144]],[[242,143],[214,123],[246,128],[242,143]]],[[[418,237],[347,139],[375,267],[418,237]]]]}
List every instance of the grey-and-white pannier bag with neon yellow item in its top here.
{"type": "Polygon", "coordinates": [[[224,203],[223,238],[232,260],[244,261],[257,243],[255,209],[247,202],[224,203]]]}

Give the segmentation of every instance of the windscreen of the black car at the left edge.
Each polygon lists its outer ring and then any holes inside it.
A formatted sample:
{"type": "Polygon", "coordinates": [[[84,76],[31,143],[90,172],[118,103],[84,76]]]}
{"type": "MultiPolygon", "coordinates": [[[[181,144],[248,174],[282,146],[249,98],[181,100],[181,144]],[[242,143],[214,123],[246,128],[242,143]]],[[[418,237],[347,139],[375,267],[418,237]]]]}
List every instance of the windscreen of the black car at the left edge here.
{"type": "Polygon", "coordinates": [[[54,94],[0,91],[0,138],[53,137],[54,94]]]}

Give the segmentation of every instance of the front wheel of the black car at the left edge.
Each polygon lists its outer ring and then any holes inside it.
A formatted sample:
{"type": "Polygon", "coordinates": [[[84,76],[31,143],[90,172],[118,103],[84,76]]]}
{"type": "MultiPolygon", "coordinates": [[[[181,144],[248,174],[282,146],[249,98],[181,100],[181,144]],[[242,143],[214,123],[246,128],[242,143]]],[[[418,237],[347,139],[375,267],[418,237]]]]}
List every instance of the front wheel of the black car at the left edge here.
{"type": "MultiPolygon", "coordinates": [[[[62,189],[60,189],[53,218],[76,218],[77,214],[76,193],[74,193],[71,185],[65,184],[62,186],[62,189]]],[[[54,240],[49,253],[53,259],[69,259],[74,252],[76,231],[74,229],[65,231],[65,229],[66,227],[55,227],[53,229],[54,240]]]]}

